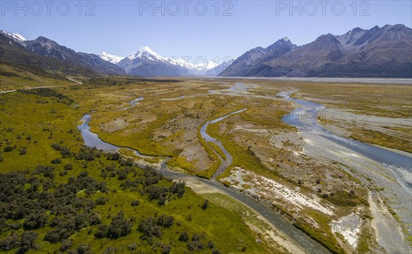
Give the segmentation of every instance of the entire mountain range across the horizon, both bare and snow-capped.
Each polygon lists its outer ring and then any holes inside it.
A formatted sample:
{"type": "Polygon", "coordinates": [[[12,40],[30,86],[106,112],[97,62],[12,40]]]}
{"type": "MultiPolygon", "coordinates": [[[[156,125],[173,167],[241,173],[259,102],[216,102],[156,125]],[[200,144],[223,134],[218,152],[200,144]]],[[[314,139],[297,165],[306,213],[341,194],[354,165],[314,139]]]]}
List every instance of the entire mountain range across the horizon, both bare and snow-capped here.
{"type": "Polygon", "coordinates": [[[167,58],[147,46],[125,58],[106,52],[95,55],[74,51],[43,36],[27,41],[21,34],[0,30],[1,63],[10,63],[10,59],[19,66],[30,62],[38,71],[59,69],[61,73],[84,76],[412,78],[412,30],[404,25],[375,26],[370,30],[356,27],[338,36],[323,34],[301,46],[285,37],[220,65],[202,60],[195,65],[182,58],[167,58]],[[16,61],[23,58],[25,62],[16,61]],[[54,59],[53,65],[47,63],[50,59],[54,59]]]}

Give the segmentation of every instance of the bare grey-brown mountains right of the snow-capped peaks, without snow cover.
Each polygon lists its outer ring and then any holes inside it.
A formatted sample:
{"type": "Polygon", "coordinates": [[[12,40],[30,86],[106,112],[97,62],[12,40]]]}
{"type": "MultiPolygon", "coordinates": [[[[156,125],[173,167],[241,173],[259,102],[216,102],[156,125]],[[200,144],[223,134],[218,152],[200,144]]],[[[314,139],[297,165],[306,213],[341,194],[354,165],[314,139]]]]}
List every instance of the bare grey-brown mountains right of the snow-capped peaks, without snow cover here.
{"type": "Polygon", "coordinates": [[[404,25],[356,27],[300,47],[279,40],[247,51],[220,76],[411,78],[412,30],[404,25]]]}

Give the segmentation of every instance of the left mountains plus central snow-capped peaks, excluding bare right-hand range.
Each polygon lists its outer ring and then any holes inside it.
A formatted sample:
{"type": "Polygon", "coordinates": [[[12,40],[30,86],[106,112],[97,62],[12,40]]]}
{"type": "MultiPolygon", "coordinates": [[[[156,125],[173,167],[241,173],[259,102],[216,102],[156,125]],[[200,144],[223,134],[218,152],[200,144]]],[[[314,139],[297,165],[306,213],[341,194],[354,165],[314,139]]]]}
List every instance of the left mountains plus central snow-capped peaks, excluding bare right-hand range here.
{"type": "MultiPolygon", "coordinates": [[[[59,45],[55,41],[39,36],[27,41],[21,34],[0,31],[5,44],[8,47],[23,47],[25,51],[54,58],[63,62],[76,65],[80,69],[87,69],[94,73],[108,75],[128,74],[133,76],[218,76],[232,60],[222,62],[201,62],[201,65],[191,64],[182,58],[165,58],[150,47],[141,47],[137,52],[126,58],[102,52],[99,55],[76,52],[73,49],[59,45]]],[[[21,50],[21,48],[20,48],[21,50]]],[[[15,52],[16,53],[16,52],[15,52]]],[[[19,54],[25,54],[20,52],[19,54]]],[[[1,51],[0,51],[1,54],[1,51]]],[[[17,54],[17,55],[19,55],[17,54]]]]}

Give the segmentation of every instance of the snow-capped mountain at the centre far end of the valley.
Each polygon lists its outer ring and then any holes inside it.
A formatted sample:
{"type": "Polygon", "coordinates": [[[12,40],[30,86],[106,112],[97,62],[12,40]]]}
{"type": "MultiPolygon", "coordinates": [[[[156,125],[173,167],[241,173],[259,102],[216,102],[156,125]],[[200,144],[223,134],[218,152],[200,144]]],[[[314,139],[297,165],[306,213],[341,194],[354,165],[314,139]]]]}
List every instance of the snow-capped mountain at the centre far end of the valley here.
{"type": "Polygon", "coordinates": [[[167,58],[157,54],[150,47],[141,47],[136,53],[117,62],[117,66],[133,76],[217,76],[228,63],[216,66],[215,62],[194,65],[182,58],[167,58]]]}

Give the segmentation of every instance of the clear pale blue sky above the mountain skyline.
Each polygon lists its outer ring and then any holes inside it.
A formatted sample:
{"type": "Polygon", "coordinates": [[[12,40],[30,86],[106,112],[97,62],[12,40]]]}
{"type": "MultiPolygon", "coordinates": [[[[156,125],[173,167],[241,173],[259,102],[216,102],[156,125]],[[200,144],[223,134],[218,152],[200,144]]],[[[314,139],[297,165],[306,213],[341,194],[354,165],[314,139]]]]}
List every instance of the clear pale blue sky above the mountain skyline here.
{"type": "Polygon", "coordinates": [[[95,54],[128,56],[148,45],[163,56],[210,61],[238,57],[285,36],[304,45],[354,27],[411,27],[411,2],[1,0],[0,29],[95,54]]]}

